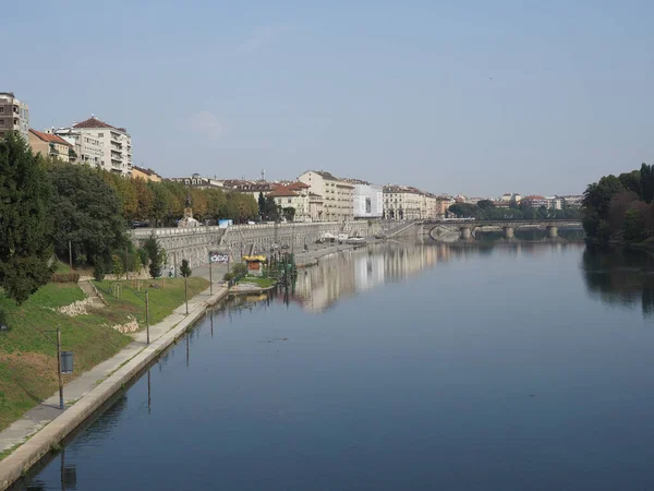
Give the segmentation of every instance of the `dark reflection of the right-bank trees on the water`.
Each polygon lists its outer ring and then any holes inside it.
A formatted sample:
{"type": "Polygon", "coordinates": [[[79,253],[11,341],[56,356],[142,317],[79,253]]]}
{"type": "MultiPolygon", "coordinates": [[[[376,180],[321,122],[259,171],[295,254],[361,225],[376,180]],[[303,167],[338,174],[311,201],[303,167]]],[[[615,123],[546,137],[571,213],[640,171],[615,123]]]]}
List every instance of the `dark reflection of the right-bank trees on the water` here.
{"type": "Polygon", "coordinates": [[[640,303],[654,314],[654,254],[642,250],[589,246],[581,267],[589,291],[615,307],[640,303]]]}

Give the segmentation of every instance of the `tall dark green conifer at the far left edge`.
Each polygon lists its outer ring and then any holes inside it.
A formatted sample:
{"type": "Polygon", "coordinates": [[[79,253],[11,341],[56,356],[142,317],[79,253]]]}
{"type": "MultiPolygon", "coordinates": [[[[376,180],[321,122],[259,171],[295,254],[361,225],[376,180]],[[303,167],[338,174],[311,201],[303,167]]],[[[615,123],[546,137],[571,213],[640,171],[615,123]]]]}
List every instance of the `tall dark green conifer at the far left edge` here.
{"type": "Polygon", "coordinates": [[[50,193],[44,163],[10,132],[0,141],[0,286],[17,304],[52,274],[50,193]]]}

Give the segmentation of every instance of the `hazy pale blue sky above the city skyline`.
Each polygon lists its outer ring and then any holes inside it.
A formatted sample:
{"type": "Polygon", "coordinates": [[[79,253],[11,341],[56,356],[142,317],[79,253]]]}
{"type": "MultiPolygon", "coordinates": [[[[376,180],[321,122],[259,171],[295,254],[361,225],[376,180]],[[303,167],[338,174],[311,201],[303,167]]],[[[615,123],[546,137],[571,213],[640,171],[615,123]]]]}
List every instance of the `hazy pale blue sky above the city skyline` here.
{"type": "Polygon", "coordinates": [[[651,0],[33,0],[2,16],[0,91],[34,128],[95,113],[164,176],[554,194],[654,163],[651,0]]]}

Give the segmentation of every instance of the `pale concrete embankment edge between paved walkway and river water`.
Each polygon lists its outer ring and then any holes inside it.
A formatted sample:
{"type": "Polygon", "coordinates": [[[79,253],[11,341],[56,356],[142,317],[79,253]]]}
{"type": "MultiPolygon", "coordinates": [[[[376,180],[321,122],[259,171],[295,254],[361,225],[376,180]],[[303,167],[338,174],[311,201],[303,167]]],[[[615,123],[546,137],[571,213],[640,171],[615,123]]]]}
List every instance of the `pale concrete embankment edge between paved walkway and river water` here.
{"type": "MultiPolygon", "coordinates": [[[[207,307],[216,304],[227,292],[227,288],[219,288],[214,295],[208,295],[208,291],[201,294],[203,298],[206,298],[196,302],[190,310],[189,315],[185,315],[180,322],[177,322],[175,319],[175,323],[170,330],[161,334],[149,345],[144,345],[144,348],[129,361],[116,367],[116,371],[110,373],[97,386],[50,421],[45,428],[32,435],[29,440],[24,442],[11,455],[1,460],[0,490],[5,490],[32,466],[38,463],[51,448],[57,447],[68,434],[73,432],[113,394],[126,385],[181,337],[205,314],[207,307]]],[[[166,322],[166,320],[162,322],[166,322]]]]}

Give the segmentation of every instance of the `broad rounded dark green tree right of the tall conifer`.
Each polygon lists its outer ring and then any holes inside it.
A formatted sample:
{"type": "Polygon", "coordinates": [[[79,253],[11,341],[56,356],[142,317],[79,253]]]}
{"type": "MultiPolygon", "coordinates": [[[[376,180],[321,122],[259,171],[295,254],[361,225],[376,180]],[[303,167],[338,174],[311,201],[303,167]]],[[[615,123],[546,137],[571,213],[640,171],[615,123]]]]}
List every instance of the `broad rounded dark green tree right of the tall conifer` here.
{"type": "Polygon", "coordinates": [[[53,164],[49,169],[55,187],[51,215],[57,224],[55,250],[73,260],[111,261],[111,251],[126,242],[125,221],[118,196],[100,172],[86,166],[53,164]]]}

